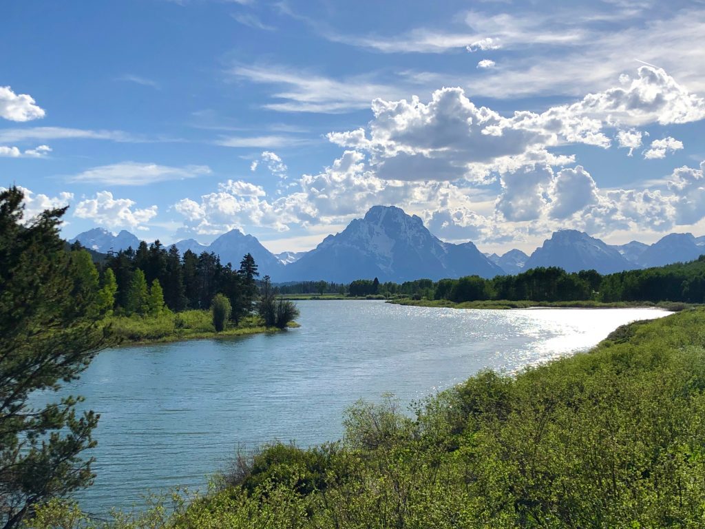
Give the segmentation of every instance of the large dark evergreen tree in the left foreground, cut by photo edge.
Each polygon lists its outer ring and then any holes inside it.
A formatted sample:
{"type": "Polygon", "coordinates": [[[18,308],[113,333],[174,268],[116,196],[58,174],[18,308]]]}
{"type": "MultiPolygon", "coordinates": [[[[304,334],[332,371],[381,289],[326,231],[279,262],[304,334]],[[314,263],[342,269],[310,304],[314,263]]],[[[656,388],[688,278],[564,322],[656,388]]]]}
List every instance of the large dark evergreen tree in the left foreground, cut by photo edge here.
{"type": "MultiPolygon", "coordinates": [[[[0,525],[18,527],[35,504],[89,485],[98,416],[78,416],[79,399],[38,408],[78,378],[106,336],[97,321],[95,276],[85,257],[69,255],[59,237],[66,208],[23,224],[23,193],[0,193],[0,525]],[[78,293],[78,296],[76,295],[78,293]]],[[[78,253],[76,253],[78,254],[78,253]]]]}

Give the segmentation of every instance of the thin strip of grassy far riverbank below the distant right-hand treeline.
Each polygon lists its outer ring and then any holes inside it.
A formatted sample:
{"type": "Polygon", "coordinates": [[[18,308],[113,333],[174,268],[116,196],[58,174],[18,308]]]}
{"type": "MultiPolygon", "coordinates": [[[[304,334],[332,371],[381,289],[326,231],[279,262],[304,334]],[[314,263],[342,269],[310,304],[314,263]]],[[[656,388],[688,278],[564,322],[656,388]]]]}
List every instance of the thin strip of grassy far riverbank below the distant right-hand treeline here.
{"type": "Polygon", "coordinates": [[[477,300],[463,301],[455,303],[449,300],[414,300],[411,298],[400,298],[387,300],[387,303],[395,305],[407,305],[411,307],[440,307],[457,309],[522,309],[522,308],[660,308],[670,312],[679,312],[686,308],[694,308],[697,305],[692,303],[672,303],[670,301],[660,301],[651,303],[650,301],[616,301],[613,303],[603,303],[601,301],[530,301],[530,300],[477,300]]]}

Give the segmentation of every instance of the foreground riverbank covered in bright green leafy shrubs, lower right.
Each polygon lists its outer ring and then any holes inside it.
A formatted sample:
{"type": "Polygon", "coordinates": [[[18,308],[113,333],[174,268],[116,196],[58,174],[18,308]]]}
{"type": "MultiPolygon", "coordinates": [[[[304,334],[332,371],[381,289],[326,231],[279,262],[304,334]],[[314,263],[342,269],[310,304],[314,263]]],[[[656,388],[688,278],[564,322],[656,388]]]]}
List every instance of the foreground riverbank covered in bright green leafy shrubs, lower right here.
{"type": "Polygon", "coordinates": [[[587,353],[480,372],[411,413],[359,402],[341,442],[240,454],[206,497],[129,527],[701,527],[704,327],[702,308],[628,324],[587,353]]]}

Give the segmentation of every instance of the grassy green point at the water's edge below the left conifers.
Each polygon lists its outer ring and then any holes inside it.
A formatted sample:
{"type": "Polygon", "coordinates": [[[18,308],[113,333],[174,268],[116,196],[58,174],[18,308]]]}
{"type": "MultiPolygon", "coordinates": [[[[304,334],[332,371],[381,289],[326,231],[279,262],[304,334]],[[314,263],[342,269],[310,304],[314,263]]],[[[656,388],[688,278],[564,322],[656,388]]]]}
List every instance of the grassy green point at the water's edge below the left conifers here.
{"type": "MultiPolygon", "coordinates": [[[[170,343],[175,341],[246,336],[265,332],[282,332],[284,329],[265,327],[257,316],[245,317],[236,327],[216,332],[211,313],[207,310],[185,310],[165,312],[159,316],[111,316],[106,318],[113,339],[118,346],[133,346],[147,343],[170,343]]],[[[291,322],[288,328],[299,327],[291,322]]]]}

